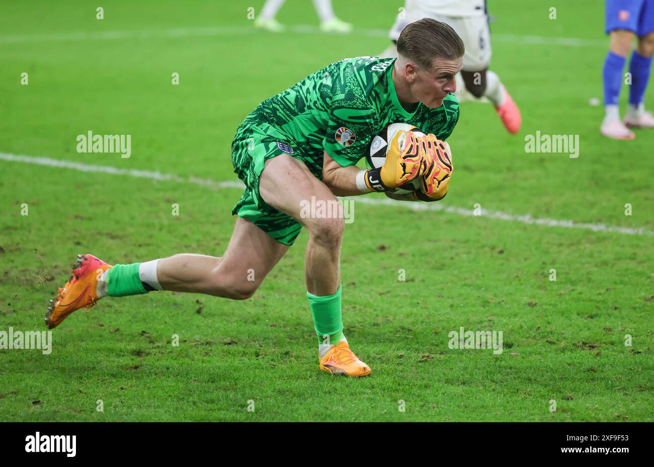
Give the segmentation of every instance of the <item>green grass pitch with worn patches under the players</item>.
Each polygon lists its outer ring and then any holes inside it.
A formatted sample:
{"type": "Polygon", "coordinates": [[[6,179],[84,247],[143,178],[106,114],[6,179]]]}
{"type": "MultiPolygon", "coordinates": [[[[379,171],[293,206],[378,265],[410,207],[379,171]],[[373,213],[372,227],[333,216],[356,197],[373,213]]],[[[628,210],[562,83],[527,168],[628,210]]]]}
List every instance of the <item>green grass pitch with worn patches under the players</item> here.
{"type": "MultiPolygon", "coordinates": [[[[77,253],[110,264],[220,256],[241,192],[184,179],[236,181],[230,143],[245,115],[327,63],[379,54],[402,6],[334,0],[357,30],[323,35],[311,2],[288,0],[278,20],[313,29],[275,35],[248,18],[262,3],[107,0],[97,20],[85,1],[3,1],[0,331],[45,329],[48,299],[77,253]],[[76,136],[90,130],[131,135],[131,157],[78,153],[76,136]]],[[[627,142],[599,134],[602,107],[589,99],[602,97],[601,2],[489,4],[491,69],[520,105],[523,129],[511,136],[491,105],[464,102],[441,202],[452,209],[354,201],[343,320],[371,377],[318,370],[303,233],[250,300],[108,298],[53,330],[50,355],[1,349],[0,420],[652,421],[654,131],[627,142]],[[579,135],[579,157],[525,152],[536,131],[579,135]],[[462,215],[475,203],[507,216],[462,215]],[[526,215],[588,225],[517,219],[526,215]],[[503,353],[450,349],[461,326],[502,331],[503,353]]],[[[626,86],[621,97],[624,111],[626,86]]]]}

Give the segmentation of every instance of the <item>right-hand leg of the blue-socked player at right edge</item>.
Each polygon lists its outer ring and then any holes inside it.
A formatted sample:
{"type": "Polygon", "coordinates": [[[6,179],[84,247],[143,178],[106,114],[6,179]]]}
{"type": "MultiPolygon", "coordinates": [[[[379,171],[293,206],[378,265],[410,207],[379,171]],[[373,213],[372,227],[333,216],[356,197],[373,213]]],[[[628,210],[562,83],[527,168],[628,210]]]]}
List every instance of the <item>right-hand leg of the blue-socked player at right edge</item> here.
{"type": "MultiPolygon", "coordinates": [[[[654,27],[654,25],[652,26],[654,27]]],[[[654,116],[645,112],[645,90],[651,72],[652,56],[654,55],[654,32],[638,38],[636,50],[631,54],[629,73],[629,104],[625,123],[629,126],[654,128],[654,116]]]]}

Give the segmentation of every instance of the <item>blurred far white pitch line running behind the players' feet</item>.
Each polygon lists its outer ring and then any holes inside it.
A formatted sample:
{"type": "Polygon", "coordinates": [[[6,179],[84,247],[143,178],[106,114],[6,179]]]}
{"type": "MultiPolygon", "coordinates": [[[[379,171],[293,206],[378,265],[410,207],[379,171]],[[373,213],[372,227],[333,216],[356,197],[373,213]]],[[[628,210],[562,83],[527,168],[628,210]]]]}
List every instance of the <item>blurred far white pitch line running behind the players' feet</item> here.
{"type": "MultiPolygon", "coordinates": [[[[326,34],[317,26],[310,24],[296,24],[289,26],[288,30],[297,34],[326,34]]],[[[0,44],[38,43],[51,41],[107,41],[114,39],[149,39],[150,37],[194,37],[194,36],[223,36],[258,33],[254,26],[214,26],[214,27],[178,27],[175,29],[149,29],[141,31],[95,31],[79,33],[54,34],[22,34],[0,35],[0,44]]],[[[385,37],[388,38],[388,29],[357,29],[346,35],[385,37]]],[[[600,39],[581,39],[578,37],[545,37],[521,36],[513,34],[493,34],[492,41],[509,44],[525,45],[557,45],[567,47],[598,47],[607,48],[608,42],[600,39]]]]}

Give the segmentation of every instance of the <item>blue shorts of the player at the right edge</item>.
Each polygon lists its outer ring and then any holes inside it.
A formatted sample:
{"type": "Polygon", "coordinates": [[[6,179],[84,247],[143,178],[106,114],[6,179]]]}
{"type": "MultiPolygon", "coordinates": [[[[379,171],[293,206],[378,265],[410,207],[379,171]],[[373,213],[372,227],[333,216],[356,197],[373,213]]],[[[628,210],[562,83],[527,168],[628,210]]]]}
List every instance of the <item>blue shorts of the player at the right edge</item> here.
{"type": "Polygon", "coordinates": [[[654,31],[654,0],[606,0],[606,33],[627,29],[638,37],[654,31]]]}

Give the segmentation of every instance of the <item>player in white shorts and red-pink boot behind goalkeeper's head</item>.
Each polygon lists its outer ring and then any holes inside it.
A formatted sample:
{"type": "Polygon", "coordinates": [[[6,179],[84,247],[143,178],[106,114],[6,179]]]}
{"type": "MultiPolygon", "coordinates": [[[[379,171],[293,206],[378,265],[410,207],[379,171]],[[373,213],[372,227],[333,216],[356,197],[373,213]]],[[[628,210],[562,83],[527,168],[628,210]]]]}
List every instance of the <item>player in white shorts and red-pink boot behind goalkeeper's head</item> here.
{"type": "MultiPolygon", "coordinates": [[[[393,45],[383,56],[396,56],[395,43],[404,27],[421,18],[434,18],[453,27],[466,45],[461,78],[465,89],[477,99],[487,97],[495,106],[504,128],[515,134],[522,125],[518,106],[496,73],[489,71],[490,29],[484,0],[405,0],[404,11],[390,29],[393,45]]],[[[462,92],[462,86],[457,82],[462,92]]]]}

